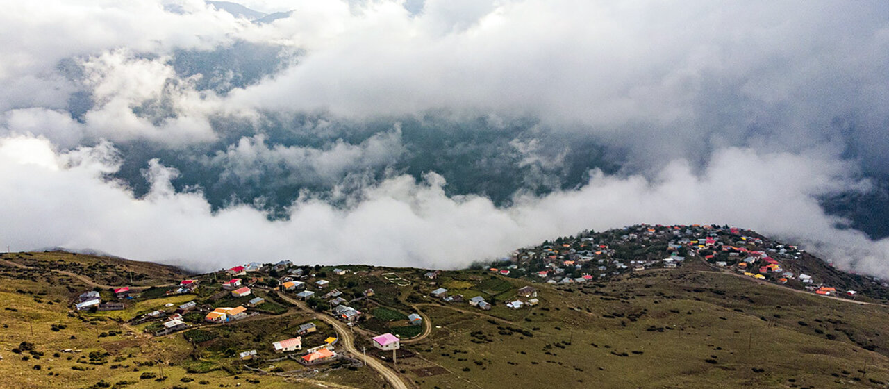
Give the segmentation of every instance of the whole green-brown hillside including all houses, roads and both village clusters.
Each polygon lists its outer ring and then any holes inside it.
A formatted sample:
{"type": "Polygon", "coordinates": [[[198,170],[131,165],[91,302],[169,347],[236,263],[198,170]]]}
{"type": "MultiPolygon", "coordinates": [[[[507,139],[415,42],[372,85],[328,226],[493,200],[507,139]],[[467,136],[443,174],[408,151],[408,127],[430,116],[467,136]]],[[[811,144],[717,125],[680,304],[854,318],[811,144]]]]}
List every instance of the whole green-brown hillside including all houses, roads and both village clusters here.
{"type": "MultiPolygon", "coordinates": [[[[173,387],[259,385],[260,378],[315,387],[492,387],[537,379],[526,369],[542,375],[535,387],[571,386],[616,384],[610,377],[622,376],[614,372],[633,363],[646,367],[632,368],[642,375],[637,382],[687,384],[673,369],[652,368],[663,358],[682,361],[685,371],[733,369],[741,385],[799,369],[764,370],[749,360],[753,336],[768,334],[782,347],[771,353],[794,358],[823,342],[834,342],[824,345],[844,361],[889,351],[875,324],[884,322],[885,282],[729,226],[584,231],[462,270],[275,260],[186,274],[119,258],[25,252],[0,255],[0,277],[9,305],[0,318],[15,329],[0,339],[0,369],[14,368],[34,387],[123,388],[168,377],[180,381],[173,387]],[[821,304],[830,310],[801,310],[821,304]],[[677,337],[659,335],[671,331],[677,337]],[[750,371],[765,376],[751,381],[750,371]]],[[[822,382],[818,374],[864,379],[845,374],[851,368],[818,371],[810,383],[822,382]]],[[[880,374],[869,379],[883,382],[880,374]]]]}

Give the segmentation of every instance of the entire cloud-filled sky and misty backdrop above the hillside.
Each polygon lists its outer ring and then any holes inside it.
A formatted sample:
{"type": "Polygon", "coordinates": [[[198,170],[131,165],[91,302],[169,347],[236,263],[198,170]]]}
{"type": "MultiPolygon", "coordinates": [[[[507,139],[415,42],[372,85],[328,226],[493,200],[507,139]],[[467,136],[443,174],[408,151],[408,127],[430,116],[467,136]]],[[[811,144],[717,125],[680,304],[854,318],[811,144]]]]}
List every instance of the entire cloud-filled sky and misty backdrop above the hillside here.
{"type": "Polygon", "coordinates": [[[889,277],[885,2],[4,11],[11,250],[458,268],[714,223],[889,277]]]}

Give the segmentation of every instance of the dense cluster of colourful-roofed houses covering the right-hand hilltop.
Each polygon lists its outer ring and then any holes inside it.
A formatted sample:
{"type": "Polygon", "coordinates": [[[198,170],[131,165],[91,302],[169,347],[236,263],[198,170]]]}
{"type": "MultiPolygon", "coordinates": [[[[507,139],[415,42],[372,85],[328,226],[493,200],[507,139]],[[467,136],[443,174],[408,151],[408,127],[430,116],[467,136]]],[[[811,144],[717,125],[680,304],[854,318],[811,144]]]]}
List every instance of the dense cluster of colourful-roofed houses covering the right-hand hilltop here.
{"type": "Polygon", "coordinates": [[[875,277],[845,274],[796,245],[773,242],[753,231],[730,226],[637,225],[602,233],[543,242],[495,262],[491,272],[550,284],[612,279],[629,272],[674,269],[704,263],[763,282],[842,298],[856,298],[856,286],[885,298],[889,285],[875,277]],[[825,266],[826,265],[826,266],[825,266]]]}

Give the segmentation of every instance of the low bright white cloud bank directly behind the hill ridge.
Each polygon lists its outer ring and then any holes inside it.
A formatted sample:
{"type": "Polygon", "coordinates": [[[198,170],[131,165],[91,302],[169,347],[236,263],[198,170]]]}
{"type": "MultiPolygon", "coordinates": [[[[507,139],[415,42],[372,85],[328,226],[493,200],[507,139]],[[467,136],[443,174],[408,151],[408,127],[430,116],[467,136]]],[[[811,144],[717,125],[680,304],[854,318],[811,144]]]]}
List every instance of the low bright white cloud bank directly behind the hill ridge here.
{"type": "Polygon", "coordinates": [[[706,220],[826,245],[839,266],[889,276],[878,265],[889,256],[886,242],[838,227],[843,220],[825,215],[816,199],[868,190],[853,164],[825,150],[716,155],[704,171],[678,160],[651,180],[596,172],[581,189],[525,196],[505,208],[477,195],[448,196],[435,173],[421,182],[397,176],[365,187],[348,208],[305,199],[289,218],[269,220],[245,205],[213,212],[201,193],[177,192],[170,183],[177,172],[157,161],[145,171],[150,191],[136,198],[107,179],[118,167],[108,143],[58,153],[45,139],[16,137],[0,143],[0,212],[16,220],[0,234],[16,250],[91,248],[198,270],[268,258],[453,268],[556,232],[706,220]]]}

